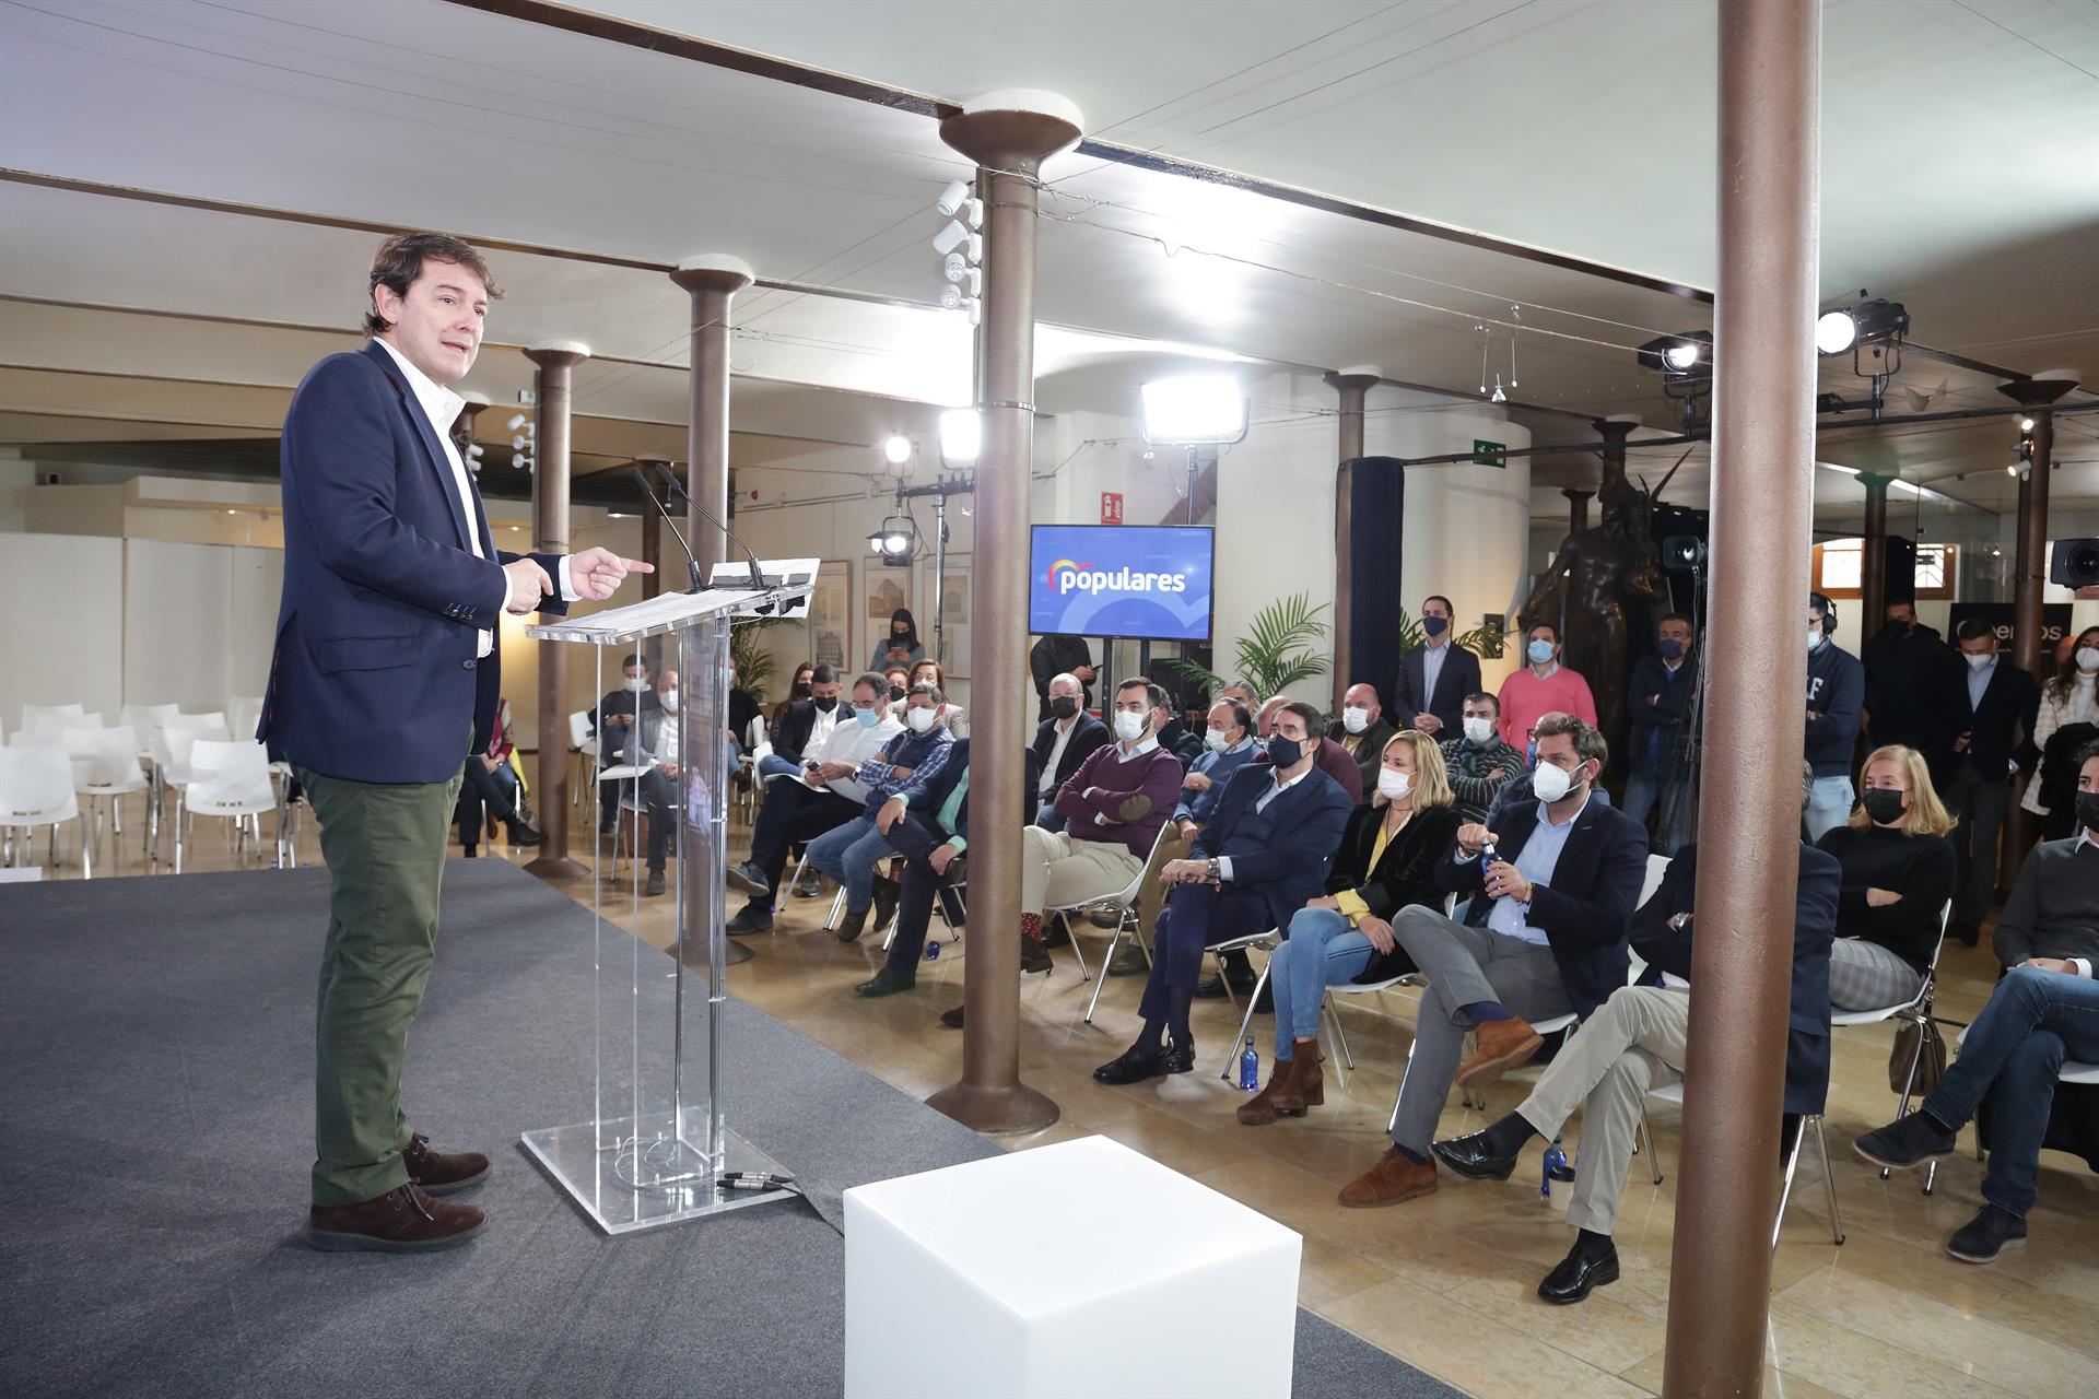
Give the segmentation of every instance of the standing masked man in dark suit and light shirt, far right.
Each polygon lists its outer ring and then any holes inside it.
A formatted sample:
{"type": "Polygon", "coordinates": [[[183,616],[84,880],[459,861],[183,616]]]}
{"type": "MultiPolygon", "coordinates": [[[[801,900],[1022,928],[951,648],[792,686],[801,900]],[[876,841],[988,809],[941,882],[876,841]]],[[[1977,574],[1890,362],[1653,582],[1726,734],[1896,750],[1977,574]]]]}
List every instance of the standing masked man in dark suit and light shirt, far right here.
{"type": "Polygon", "coordinates": [[[2034,755],[2040,682],[1998,654],[1990,623],[1967,619],[1954,627],[1954,644],[1963,661],[1952,705],[1954,755],[1939,795],[1960,818],[1952,833],[1960,854],[1952,933],[1975,946],[1996,902],[1996,847],[2009,782],[2034,755]]]}

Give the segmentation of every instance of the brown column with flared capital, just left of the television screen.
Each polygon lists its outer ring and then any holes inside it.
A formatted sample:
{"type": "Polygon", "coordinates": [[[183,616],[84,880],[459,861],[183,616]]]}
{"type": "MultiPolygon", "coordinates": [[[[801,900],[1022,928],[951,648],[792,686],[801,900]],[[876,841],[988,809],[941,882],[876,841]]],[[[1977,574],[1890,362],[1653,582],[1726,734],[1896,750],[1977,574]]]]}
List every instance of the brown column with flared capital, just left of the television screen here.
{"type": "Polygon", "coordinates": [[[1035,705],[1029,667],[1029,476],[1035,461],[1035,203],[1041,162],[1073,145],[1079,109],[1050,92],[995,92],[940,122],[940,141],[976,162],[984,199],[984,449],[976,459],[976,566],[970,571],[970,956],[963,961],[961,1080],[928,1103],[980,1133],[1031,1133],[1058,1105],[1020,1082],[1018,761],[1035,705]]]}

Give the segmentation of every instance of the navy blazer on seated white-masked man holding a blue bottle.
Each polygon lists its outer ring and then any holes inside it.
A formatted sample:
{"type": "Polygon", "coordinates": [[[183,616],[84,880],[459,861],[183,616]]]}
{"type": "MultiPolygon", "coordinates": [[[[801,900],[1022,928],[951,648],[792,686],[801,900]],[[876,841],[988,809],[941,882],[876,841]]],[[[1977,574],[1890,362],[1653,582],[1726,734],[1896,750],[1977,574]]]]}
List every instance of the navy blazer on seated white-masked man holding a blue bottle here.
{"type": "MultiPolygon", "coordinates": [[[[1530,843],[1539,828],[1539,801],[1494,808],[1494,847],[1509,864],[1530,843]]],[[[1436,866],[1436,885],[1459,894],[1478,894],[1465,908],[1469,927],[1486,927],[1494,900],[1484,896],[1486,862],[1459,860],[1457,845],[1436,866]]],[[[1597,801],[1574,818],[1574,831],[1560,849],[1551,885],[1530,894],[1530,927],[1545,933],[1545,944],[1560,963],[1560,984],[1574,1011],[1591,1015],[1625,986],[1633,959],[1625,952],[1625,935],[1639,904],[1639,885],[1648,879],[1648,828],[1625,812],[1597,801]]]]}

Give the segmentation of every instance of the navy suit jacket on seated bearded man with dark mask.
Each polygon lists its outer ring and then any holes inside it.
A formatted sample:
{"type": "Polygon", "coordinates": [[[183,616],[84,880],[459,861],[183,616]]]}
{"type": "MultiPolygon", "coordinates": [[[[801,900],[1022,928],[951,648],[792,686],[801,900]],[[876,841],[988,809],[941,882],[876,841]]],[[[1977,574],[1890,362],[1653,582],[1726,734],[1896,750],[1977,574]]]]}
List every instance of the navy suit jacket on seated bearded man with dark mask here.
{"type": "Polygon", "coordinates": [[[1312,768],[1295,787],[1255,812],[1274,787],[1276,770],[1247,763],[1224,784],[1217,810],[1194,837],[1190,860],[1232,856],[1230,887],[1259,885],[1276,927],[1327,894],[1327,868],[1341,847],[1354,801],[1331,776],[1312,768]]]}

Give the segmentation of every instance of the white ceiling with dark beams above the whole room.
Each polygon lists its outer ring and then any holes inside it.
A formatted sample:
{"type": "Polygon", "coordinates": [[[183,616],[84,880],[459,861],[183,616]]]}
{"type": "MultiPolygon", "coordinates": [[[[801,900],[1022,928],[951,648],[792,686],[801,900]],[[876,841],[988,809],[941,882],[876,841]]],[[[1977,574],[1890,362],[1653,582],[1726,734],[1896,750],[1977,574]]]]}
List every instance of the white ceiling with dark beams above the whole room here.
{"type": "MultiPolygon", "coordinates": [[[[1089,4],[590,8],[945,101],[1043,86],[1110,143],[1711,285],[1704,0],[1154,0],[1117,6],[1112,42],[1089,4]]],[[[2099,6],[1832,0],[1824,88],[1832,296],[1868,285],[1908,302],[1923,344],[2099,378],[2099,6]]],[[[684,417],[686,310],[661,266],[720,250],[766,279],[928,302],[930,199],[963,172],[911,111],[443,0],[0,0],[0,166],[638,262],[497,250],[510,298],[491,342],[584,340],[661,365],[577,371],[579,411],[657,424],[684,417]]],[[[1083,153],[1045,174],[1052,407],[1127,413],[1136,384],[1186,354],[1379,363],[1471,394],[1484,350],[1520,403],[1667,428],[1631,346],[1711,325],[1698,300],[1217,182],[1083,153]],[[1503,325],[1482,336],[1482,319],[1503,325]]],[[[0,185],[6,296],[351,325],[369,245],[369,231],[0,185]]],[[[751,432],[871,443],[968,392],[953,313],[754,289],[737,321],[751,432]]],[[[311,363],[296,338],[235,340],[88,319],[0,361],[63,352],[174,378],[208,361],[208,378],[267,384],[311,363]],[[214,352],[185,352],[199,344],[214,352]]],[[[491,350],[468,386],[510,401],[523,373],[491,350]]],[[[1914,354],[1900,382],[1942,380],[1933,409],[2000,403],[1988,375],[1914,354]]],[[[1824,388],[1860,384],[1824,365],[1824,388]]],[[[1946,476],[1975,470],[2002,430],[1988,434],[1870,451],[1946,476]]],[[[1702,491],[1694,466],[1671,495],[1702,491]]]]}

